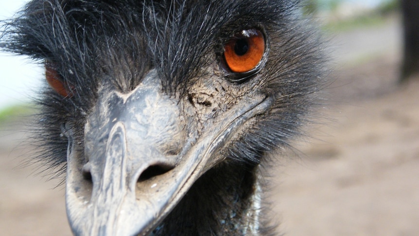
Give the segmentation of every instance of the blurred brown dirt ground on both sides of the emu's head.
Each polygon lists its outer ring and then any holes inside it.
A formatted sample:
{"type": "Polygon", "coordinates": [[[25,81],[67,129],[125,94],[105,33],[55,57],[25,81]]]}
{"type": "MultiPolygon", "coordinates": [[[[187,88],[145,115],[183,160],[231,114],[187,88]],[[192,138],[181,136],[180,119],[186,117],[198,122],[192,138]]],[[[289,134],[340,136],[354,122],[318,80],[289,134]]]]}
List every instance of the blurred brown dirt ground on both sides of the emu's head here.
{"type": "MultiPolygon", "coordinates": [[[[419,235],[419,77],[399,86],[400,27],[334,36],[335,80],[313,137],[272,173],[273,218],[288,236],[419,235]],[[379,42],[379,43],[377,43],[379,42]],[[368,44],[369,43],[369,44],[368,44]]],[[[64,187],[18,167],[18,132],[0,128],[0,235],[70,235],[64,187]]],[[[20,154],[19,154],[20,153],[20,154]]]]}

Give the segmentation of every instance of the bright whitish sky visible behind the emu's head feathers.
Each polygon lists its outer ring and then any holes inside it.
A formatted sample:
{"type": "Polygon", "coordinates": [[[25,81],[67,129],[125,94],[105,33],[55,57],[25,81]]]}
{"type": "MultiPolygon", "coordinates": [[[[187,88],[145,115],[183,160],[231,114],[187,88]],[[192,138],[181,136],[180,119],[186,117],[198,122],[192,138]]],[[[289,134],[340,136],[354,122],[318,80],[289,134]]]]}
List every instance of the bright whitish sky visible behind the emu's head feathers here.
{"type": "MultiPolygon", "coordinates": [[[[331,0],[322,0],[328,2],[331,0]]],[[[377,5],[384,0],[344,0],[377,5]]],[[[8,19],[16,13],[27,0],[0,0],[0,20],[8,19]]],[[[0,52],[0,110],[21,103],[28,103],[36,95],[44,80],[44,69],[24,56],[14,56],[0,52]]]]}

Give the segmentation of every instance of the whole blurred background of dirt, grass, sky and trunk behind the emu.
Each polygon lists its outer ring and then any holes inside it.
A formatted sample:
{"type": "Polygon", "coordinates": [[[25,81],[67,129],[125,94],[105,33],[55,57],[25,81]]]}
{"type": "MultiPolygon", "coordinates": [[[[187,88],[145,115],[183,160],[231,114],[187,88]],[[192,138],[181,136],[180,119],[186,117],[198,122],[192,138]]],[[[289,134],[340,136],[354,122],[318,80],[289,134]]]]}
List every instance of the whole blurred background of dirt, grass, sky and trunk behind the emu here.
{"type": "MultiPolygon", "coordinates": [[[[1,0],[0,19],[24,2],[1,0]]],[[[404,18],[400,0],[306,2],[332,82],[311,138],[272,171],[269,217],[288,236],[418,236],[419,1],[404,0],[404,18]]],[[[43,68],[1,53],[0,70],[0,235],[71,235],[64,186],[27,166],[34,150],[21,145],[43,68]]]]}

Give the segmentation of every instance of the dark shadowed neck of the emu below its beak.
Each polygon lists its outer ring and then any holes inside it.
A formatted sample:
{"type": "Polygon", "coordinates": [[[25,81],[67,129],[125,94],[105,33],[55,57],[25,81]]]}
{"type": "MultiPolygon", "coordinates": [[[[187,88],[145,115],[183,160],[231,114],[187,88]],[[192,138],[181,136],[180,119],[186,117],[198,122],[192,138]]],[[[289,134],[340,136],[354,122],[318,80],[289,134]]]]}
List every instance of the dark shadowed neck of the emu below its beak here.
{"type": "Polygon", "coordinates": [[[152,235],[258,235],[257,169],[227,162],[212,168],[152,235]]]}

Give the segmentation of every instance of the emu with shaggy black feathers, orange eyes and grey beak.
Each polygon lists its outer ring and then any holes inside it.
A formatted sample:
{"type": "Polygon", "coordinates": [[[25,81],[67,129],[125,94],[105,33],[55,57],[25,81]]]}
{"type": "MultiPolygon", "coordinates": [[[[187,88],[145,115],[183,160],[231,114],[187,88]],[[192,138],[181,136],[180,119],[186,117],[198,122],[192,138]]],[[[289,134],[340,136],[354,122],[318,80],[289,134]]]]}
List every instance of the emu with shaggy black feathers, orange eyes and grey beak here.
{"type": "Polygon", "coordinates": [[[1,47],[45,65],[34,128],[75,235],[267,235],[263,168],[324,85],[294,0],[32,0],[1,47]]]}

